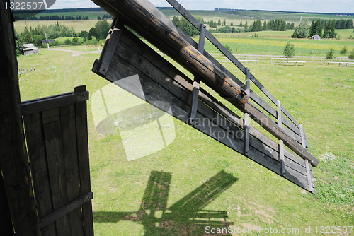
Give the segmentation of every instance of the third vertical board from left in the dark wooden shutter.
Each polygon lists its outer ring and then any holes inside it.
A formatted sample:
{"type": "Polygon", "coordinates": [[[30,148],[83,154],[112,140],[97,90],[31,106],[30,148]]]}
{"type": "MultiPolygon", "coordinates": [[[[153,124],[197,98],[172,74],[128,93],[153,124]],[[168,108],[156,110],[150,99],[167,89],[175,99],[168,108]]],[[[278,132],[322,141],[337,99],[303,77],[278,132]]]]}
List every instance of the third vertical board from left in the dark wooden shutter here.
{"type": "MultiPolygon", "coordinates": [[[[76,90],[80,88],[75,88],[76,90]]],[[[81,87],[86,90],[86,86],[81,87]]],[[[65,182],[67,185],[67,201],[80,197],[79,166],[76,149],[76,117],[74,104],[59,107],[60,125],[62,127],[62,145],[64,156],[65,182]]],[[[84,235],[82,227],[81,208],[75,208],[69,213],[71,228],[69,235],[84,235]]]]}

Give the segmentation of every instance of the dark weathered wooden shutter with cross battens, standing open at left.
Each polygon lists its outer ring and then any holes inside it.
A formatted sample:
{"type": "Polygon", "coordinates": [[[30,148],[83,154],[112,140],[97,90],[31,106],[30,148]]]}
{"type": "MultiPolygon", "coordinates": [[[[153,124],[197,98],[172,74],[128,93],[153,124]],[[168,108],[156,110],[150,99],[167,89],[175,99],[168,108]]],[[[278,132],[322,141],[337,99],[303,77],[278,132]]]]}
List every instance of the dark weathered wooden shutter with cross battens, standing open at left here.
{"type": "Polygon", "coordinates": [[[91,193],[88,99],[81,86],[74,93],[22,103],[42,235],[93,235],[91,198],[86,197],[91,193]]]}

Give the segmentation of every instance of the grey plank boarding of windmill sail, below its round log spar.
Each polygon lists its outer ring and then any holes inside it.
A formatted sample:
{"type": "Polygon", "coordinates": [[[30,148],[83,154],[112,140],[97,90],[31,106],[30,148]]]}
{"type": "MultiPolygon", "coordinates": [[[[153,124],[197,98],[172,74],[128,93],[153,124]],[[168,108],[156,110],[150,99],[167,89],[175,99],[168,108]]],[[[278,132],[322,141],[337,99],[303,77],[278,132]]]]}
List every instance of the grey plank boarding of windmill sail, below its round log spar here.
{"type": "MultiPolygon", "coordinates": [[[[128,76],[139,76],[147,102],[161,110],[164,110],[164,107],[160,107],[160,103],[156,101],[169,103],[173,117],[188,124],[193,81],[132,35],[129,30],[122,28],[115,30],[113,34],[115,32],[121,34],[119,42],[108,40],[104,46],[116,45],[115,54],[109,64],[110,69],[101,73],[101,61],[96,61],[93,65],[93,72],[111,82],[128,76]]],[[[122,85],[122,88],[135,93],[129,86],[122,85]]],[[[198,109],[193,127],[244,155],[246,129],[244,120],[202,88],[198,94],[198,109]]],[[[282,175],[278,143],[253,126],[249,126],[247,130],[249,130],[248,157],[278,175],[282,175]]],[[[285,179],[309,190],[304,160],[287,149],[284,150],[284,156],[285,179]]]]}

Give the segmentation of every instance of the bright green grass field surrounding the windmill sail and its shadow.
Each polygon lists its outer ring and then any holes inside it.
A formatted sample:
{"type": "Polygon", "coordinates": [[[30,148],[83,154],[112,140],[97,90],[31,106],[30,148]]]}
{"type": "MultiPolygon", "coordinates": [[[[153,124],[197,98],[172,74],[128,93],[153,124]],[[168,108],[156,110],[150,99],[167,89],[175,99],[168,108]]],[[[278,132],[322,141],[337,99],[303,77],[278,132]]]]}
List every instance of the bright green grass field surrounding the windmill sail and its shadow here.
{"type": "MultiPolygon", "coordinates": [[[[343,45],[354,48],[354,40],[246,36],[219,34],[217,38],[236,54],[282,54],[288,40],[295,44],[297,54],[304,56],[324,56],[330,47],[338,56],[343,45]]],[[[70,48],[84,51],[84,46],[70,48]]],[[[217,52],[209,42],[205,49],[217,52]]],[[[99,54],[72,57],[70,52],[39,52],[18,57],[19,68],[35,68],[19,78],[21,100],[66,93],[83,84],[92,98],[93,93],[109,84],[91,72],[99,54]]],[[[236,67],[224,66],[243,80],[236,67]]],[[[319,61],[306,66],[276,66],[269,59],[248,67],[304,125],[309,151],[320,160],[319,167],[314,168],[316,196],[177,119],[173,119],[176,138],[169,146],[128,161],[119,132],[105,135],[96,131],[89,100],[95,235],[210,235],[200,225],[299,229],[299,233],[281,235],[316,235],[315,227],[321,232],[321,226],[346,226],[348,230],[353,226],[354,67],[321,66],[319,61]],[[156,176],[164,177],[165,182],[154,183],[152,178],[156,176]],[[143,211],[144,201],[149,199],[142,197],[154,189],[154,184],[159,191],[150,199],[152,206],[157,206],[157,199],[164,206],[143,211]],[[190,201],[191,196],[198,200],[190,201]],[[197,211],[200,215],[195,216],[197,211]],[[306,234],[304,228],[309,227],[311,233],[306,234]]],[[[251,85],[252,90],[256,90],[254,87],[251,85]]],[[[342,235],[354,235],[354,230],[342,235]]]]}

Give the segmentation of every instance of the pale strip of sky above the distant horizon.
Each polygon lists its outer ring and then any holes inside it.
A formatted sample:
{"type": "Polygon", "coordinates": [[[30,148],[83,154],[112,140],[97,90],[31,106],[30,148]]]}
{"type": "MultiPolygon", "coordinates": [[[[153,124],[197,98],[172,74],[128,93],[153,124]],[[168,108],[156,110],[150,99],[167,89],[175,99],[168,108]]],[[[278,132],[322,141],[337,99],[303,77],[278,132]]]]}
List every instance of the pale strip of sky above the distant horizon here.
{"type": "MultiPolygon", "coordinates": [[[[170,6],[165,0],[149,0],[154,6],[170,6]]],[[[353,0],[179,0],[187,10],[235,8],[247,10],[354,13],[353,0]]],[[[51,9],[97,7],[90,0],[57,0],[51,9]]]]}

